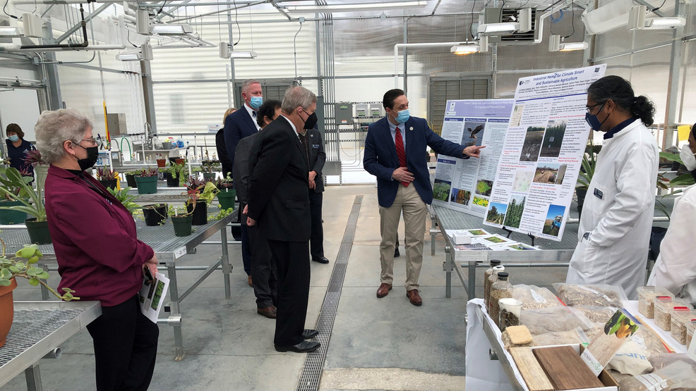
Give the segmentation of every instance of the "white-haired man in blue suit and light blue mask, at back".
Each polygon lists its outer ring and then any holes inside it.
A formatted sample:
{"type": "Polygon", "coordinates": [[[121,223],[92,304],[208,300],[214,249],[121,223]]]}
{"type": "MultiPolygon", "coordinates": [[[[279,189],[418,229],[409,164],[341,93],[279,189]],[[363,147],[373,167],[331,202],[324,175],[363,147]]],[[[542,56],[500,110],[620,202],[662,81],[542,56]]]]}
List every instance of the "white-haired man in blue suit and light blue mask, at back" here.
{"type": "MultiPolygon", "coordinates": [[[[244,80],[241,83],[241,98],[244,99],[244,106],[224,118],[224,146],[227,148],[227,157],[232,162],[232,170],[234,170],[234,151],[236,151],[239,140],[256,134],[260,129],[256,123],[256,111],[263,103],[261,83],[253,79],[244,80]]],[[[238,217],[241,218],[241,209],[238,217]]],[[[247,283],[253,287],[251,254],[248,253],[248,247],[246,249],[247,252],[242,247],[241,260],[244,263],[247,283]]]]}

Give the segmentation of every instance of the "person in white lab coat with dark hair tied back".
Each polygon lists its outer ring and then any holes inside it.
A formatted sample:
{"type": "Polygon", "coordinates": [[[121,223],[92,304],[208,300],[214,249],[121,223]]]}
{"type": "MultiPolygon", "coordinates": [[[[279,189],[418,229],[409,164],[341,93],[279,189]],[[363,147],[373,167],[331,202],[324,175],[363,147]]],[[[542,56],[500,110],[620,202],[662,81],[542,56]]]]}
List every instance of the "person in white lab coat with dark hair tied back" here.
{"type": "Polygon", "coordinates": [[[605,76],[587,89],[587,123],[604,132],[566,283],[618,285],[636,298],[645,280],[659,150],[646,128],[655,108],[627,80],[605,76]]]}

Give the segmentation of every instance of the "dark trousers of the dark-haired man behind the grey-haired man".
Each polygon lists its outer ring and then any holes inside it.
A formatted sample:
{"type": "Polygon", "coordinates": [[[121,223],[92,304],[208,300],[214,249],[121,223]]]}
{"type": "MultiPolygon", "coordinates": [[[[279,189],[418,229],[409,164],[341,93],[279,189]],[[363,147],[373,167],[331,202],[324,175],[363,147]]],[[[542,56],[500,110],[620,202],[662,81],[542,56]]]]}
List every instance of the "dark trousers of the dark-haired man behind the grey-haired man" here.
{"type": "MultiPolygon", "coordinates": [[[[246,216],[245,216],[246,218],[246,216]]],[[[256,307],[264,309],[275,306],[277,300],[277,280],[275,264],[268,241],[258,232],[256,225],[246,227],[251,237],[251,280],[253,294],[256,296],[256,307]]]]}

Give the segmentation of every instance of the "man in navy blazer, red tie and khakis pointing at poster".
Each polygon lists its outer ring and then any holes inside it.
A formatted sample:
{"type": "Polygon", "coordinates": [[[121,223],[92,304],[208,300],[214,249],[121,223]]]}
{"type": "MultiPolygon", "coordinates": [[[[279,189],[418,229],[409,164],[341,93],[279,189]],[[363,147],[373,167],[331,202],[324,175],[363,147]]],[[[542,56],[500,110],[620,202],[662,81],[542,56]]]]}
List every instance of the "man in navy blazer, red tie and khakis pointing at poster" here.
{"type": "Polygon", "coordinates": [[[406,231],[406,296],[411,304],[423,304],[418,278],[423,263],[424,231],[428,206],[433,201],[426,146],[438,154],[469,159],[485,147],[464,147],[436,135],[423,118],[409,115],[409,100],[402,89],[390,89],[382,104],[387,116],[368,128],[363,166],[377,177],[380,208],[380,287],[377,297],[392,289],[394,248],[401,214],[406,231]]]}

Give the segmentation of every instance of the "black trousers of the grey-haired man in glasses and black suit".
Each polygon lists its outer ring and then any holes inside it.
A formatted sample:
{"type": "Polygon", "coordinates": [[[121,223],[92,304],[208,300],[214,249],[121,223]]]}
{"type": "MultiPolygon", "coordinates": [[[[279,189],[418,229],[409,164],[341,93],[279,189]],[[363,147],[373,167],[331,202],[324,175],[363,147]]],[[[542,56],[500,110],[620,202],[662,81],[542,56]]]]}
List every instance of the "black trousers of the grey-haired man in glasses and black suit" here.
{"type": "Polygon", "coordinates": [[[273,343],[297,345],[307,318],[309,300],[309,244],[268,240],[278,271],[278,313],[273,343]]]}

